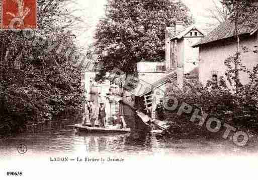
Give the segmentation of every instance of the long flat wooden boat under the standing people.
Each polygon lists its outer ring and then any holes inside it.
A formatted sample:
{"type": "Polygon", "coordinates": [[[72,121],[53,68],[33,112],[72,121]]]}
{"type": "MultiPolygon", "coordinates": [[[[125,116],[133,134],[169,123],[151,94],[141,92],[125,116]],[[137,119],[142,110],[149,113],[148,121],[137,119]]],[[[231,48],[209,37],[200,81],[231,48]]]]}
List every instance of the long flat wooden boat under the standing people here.
{"type": "Polygon", "coordinates": [[[113,126],[103,127],[90,127],[84,126],[82,124],[75,124],[74,128],[78,132],[94,132],[94,133],[129,133],[131,132],[130,128],[117,129],[113,126]]]}

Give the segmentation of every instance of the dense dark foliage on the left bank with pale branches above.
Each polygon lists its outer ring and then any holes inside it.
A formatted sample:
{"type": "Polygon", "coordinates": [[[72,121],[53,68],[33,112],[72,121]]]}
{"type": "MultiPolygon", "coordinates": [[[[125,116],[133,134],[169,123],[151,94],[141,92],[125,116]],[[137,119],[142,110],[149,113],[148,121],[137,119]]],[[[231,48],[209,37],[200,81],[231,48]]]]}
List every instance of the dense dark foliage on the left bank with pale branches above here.
{"type": "MultiPolygon", "coordinates": [[[[76,21],[68,0],[38,1],[37,33],[76,49],[66,28],[76,21]],[[49,4],[52,2],[52,4],[49,4]]],[[[32,46],[22,31],[0,32],[0,132],[73,115],[80,109],[80,73],[62,53],[32,46]]],[[[56,47],[58,48],[58,46],[56,47]]]]}

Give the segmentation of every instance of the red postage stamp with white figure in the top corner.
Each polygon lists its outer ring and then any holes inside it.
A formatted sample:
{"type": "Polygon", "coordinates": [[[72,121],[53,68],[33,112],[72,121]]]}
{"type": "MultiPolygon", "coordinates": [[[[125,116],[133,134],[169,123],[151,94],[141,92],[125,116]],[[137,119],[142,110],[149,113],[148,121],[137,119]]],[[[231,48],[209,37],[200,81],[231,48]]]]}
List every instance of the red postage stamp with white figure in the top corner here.
{"type": "Polygon", "coordinates": [[[2,29],[36,29],[37,0],[0,0],[2,29]]]}

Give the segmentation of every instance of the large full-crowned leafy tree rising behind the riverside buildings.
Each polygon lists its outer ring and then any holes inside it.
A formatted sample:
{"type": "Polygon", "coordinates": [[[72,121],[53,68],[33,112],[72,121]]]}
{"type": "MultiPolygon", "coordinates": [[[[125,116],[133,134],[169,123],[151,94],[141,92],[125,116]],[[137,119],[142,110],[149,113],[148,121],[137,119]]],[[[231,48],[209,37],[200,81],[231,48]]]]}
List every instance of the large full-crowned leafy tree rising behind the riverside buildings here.
{"type": "Polygon", "coordinates": [[[193,23],[181,1],[109,0],[96,31],[100,78],[115,67],[133,74],[140,61],[163,61],[165,28],[177,21],[193,23]]]}

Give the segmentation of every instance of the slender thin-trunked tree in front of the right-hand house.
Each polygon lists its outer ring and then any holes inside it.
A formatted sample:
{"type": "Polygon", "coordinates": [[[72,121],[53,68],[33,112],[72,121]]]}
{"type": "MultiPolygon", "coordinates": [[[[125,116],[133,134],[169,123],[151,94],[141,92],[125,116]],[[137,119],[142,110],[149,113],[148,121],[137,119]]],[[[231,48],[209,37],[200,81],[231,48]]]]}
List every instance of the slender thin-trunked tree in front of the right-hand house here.
{"type": "MultiPolygon", "coordinates": [[[[239,116],[239,111],[242,109],[242,93],[245,92],[244,86],[239,80],[239,72],[246,72],[246,68],[241,63],[240,47],[239,47],[239,32],[238,25],[245,25],[246,22],[249,26],[254,26],[253,20],[257,19],[257,3],[253,0],[223,0],[221,3],[227,7],[229,12],[229,20],[234,24],[235,28],[235,40],[236,40],[236,53],[234,56],[229,57],[225,61],[225,65],[228,67],[226,76],[227,80],[231,84],[234,90],[234,102],[236,116],[239,116]],[[240,108],[240,109],[239,109],[240,108]]],[[[248,26],[246,25],[246,26],[248,26]]]]}

